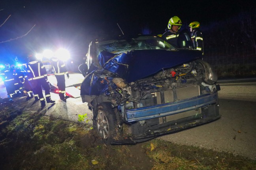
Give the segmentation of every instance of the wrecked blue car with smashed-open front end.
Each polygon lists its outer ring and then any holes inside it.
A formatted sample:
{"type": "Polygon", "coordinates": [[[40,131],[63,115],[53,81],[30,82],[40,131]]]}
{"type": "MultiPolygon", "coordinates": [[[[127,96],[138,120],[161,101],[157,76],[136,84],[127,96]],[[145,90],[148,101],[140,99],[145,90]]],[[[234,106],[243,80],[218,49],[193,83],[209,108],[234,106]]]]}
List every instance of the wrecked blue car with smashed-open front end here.
{"type": "Polygon", "coordinates": [[[211,66],[181,32],[179,47],[158,36],[92,41],[81,98],[107,144],[135,144],[220,118],[211,66]]]}

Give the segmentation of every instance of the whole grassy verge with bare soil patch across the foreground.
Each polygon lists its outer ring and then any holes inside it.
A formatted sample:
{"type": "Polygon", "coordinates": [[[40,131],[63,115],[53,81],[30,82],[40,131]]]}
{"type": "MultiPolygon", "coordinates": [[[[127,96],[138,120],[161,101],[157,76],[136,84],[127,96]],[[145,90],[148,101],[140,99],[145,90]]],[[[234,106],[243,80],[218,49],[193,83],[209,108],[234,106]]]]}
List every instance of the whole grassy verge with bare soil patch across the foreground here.
{"type": "Polygon", "coordinates": [[[163,140],[106,146],[90,124],[0,106],[2,170],[256,170],[256,161],[163,140]]]}

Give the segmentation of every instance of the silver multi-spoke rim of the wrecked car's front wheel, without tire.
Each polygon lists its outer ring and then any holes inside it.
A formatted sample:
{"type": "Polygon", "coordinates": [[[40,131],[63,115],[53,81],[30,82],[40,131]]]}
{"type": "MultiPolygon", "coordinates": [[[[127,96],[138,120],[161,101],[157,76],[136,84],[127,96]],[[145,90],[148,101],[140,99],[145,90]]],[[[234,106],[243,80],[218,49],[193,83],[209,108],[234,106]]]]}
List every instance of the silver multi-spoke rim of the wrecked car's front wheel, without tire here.
{"type": "Polygon", "coordinates": [[[108,121],[107,121],[107,116],[101,110],[98,110],[98,116],[96,119],[96,123],[97,123],[97,130],[100,133],[100,136],[103,139],[107,139],[108,134],[109,134],[109,125],[108,125],[108,121]]]}

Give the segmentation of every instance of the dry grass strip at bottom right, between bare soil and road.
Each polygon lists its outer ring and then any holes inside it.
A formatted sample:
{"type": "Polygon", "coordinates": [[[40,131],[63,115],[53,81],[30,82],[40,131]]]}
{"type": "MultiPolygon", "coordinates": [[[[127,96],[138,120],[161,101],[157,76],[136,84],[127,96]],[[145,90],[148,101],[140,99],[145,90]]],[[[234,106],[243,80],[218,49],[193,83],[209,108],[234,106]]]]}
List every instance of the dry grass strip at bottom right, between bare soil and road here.
{"type": "Polygon", "coordinates": [[[256,161],[163,140],[151,140],[143,148],[154,160],[152,170],[256,170],[256,161]]]}

